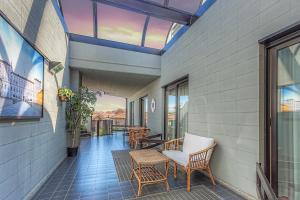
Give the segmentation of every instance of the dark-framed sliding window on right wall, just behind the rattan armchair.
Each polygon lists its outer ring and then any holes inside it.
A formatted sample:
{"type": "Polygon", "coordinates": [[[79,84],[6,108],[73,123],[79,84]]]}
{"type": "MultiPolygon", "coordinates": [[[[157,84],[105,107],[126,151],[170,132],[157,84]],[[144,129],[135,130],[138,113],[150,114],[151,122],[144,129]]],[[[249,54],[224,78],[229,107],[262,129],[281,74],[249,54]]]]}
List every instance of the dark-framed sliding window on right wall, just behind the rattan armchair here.
{"type": "Polygon", "coordinates": [[[165,138],[183,137],[188,131],[188,78],[165,87],[165,138]]]}

